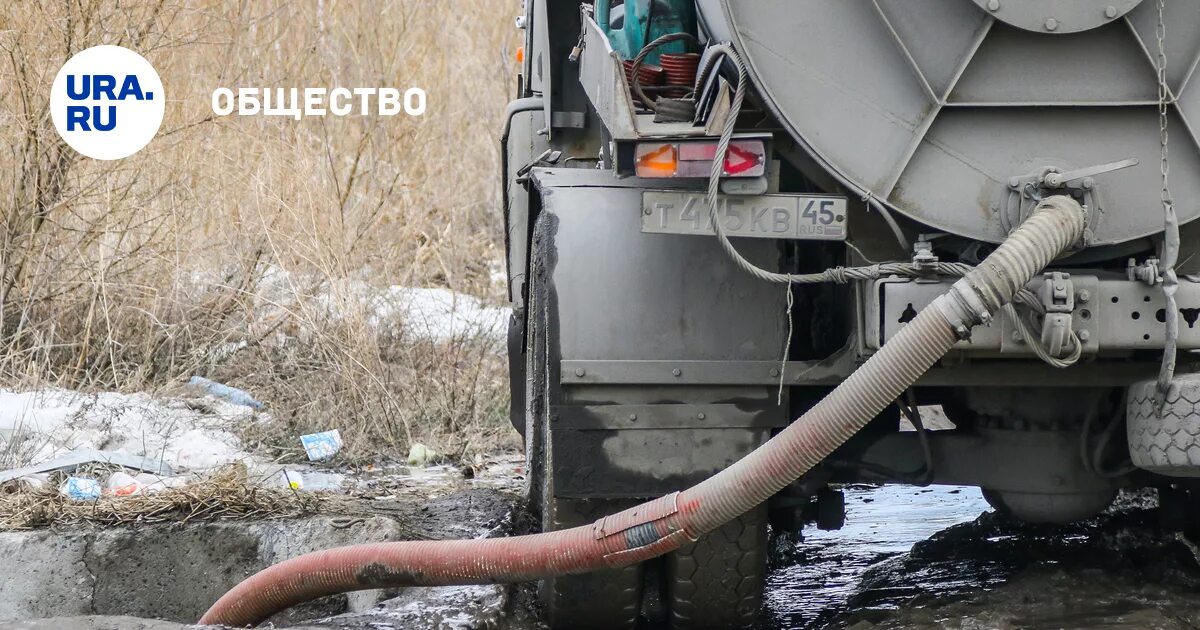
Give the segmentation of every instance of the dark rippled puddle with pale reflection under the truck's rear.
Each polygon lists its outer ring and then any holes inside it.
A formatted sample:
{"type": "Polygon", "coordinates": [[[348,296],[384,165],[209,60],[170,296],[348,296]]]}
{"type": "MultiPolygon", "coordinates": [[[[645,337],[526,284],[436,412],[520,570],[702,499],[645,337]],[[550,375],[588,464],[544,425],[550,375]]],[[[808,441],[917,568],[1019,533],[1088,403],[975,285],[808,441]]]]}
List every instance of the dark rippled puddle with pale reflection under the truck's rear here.
{"type": "Polygon", "coordinates": [[[1198,547],[1153,503],[1049,527],[989,511],[976,488],[847,488],[844,529],[776,547],[764,625],[1200,628],[1198,547]]]}

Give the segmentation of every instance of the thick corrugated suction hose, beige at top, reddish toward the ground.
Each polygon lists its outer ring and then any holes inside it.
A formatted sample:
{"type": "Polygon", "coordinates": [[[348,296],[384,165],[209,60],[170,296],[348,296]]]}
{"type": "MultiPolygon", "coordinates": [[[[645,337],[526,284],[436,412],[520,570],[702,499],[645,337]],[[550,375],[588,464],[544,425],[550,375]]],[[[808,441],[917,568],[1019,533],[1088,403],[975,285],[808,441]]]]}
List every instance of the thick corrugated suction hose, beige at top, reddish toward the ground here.
{"type": "Polygon", "coordinates": [[[270,566],[226,593],[202,624],[257,624],[323,595],[401,586],[526,582],[625,566],[674,551],[767,500],[892,403],[986,323],[1034,274],[1076,242],[1084,210],[1042,202],[979,266],[920,311],[820,403],[733,466],[590,526],[526,536],[376,542],[308,553],[270,566]]]}

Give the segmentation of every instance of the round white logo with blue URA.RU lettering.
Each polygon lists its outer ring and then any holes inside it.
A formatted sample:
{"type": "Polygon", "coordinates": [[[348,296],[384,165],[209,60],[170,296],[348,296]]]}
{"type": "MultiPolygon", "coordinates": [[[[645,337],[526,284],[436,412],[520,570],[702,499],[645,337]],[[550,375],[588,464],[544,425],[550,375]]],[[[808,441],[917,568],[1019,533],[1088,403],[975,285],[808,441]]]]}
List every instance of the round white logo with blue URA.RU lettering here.
{"type": "Polygon", "coordinates": [[[162,80],[145,58],[120,46],[80,50],[50,86],[50,118],[62,139],[96,160],[139,151],[158,132],[162,80]]]}

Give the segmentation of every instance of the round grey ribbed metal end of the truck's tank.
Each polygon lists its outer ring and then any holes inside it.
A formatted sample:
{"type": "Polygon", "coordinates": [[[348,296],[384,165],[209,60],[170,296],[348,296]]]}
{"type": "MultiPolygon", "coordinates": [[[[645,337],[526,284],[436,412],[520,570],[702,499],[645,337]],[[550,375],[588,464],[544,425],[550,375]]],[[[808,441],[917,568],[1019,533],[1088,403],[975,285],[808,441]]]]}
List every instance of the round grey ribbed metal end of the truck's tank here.
{"type": "MultiPolygon", "coordinates": [[[[781,122],[859,194],[997,242],[1019,221],[1014,178],[1136,158],[1088,182],[1090,242],[1163,229],[1153,0],[700,6],[781,122]]],[[[1171,192],[1189,221],[1200,214],[1200,2],[1166,0],[1165,24],[1171,192]]]]}

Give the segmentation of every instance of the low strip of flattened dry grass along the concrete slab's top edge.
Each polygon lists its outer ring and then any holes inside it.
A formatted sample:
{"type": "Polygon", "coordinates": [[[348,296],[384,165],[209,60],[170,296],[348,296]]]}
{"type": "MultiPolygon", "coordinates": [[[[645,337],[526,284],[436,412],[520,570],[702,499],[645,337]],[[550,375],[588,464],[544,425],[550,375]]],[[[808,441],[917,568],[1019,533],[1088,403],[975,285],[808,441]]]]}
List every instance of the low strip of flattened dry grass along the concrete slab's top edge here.
{"type": "Polygon", "coordinates": [[[54,484],[0,493],[0,530],[94,523],[101,526],[286,518],[317,514],[332,497],[264,487],[229,467],[185,487],[74,502],[54,484]]]}

